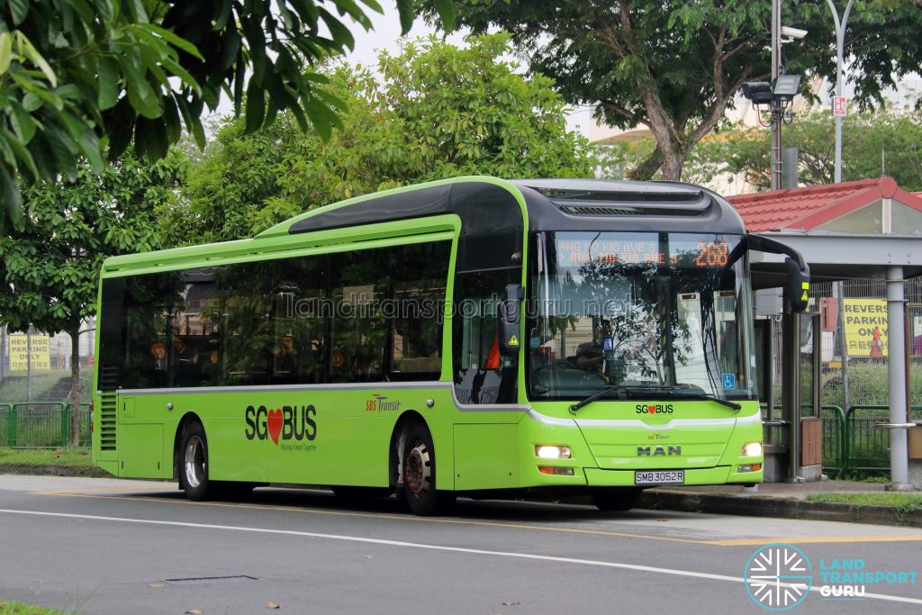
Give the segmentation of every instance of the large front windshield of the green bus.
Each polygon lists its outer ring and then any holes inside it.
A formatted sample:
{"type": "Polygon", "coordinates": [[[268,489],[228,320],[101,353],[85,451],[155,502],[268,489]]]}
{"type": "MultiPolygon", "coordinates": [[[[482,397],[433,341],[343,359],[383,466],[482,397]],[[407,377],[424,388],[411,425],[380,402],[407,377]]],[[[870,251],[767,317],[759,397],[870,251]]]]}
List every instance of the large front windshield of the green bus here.
{"type": "Polygon", "coordinates": [[[533,400],[755,398],[739,235],[533,236],[526,333],[533,400]]]}

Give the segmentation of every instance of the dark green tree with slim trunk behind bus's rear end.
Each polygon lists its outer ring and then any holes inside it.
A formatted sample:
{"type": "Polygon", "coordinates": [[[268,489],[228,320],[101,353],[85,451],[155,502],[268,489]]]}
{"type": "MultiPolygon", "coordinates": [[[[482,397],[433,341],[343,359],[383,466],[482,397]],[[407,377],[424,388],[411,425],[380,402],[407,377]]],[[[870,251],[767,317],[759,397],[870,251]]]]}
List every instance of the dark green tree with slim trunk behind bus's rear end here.
{"type": "MultiPolygon", "coordinates": [[[[0,238],[0,323],[14,331],[66,331],[76,359],[80,325],[96,311],[103,259],[160,247],[159,219],[174,206],[185,170],[176,152],[154,163],[126,154],[100,174],[82,164],[73,183],[26,188],[22,222],[0,238]]],[[[79,370],[72,361],[75,445],[79,370]]]]}

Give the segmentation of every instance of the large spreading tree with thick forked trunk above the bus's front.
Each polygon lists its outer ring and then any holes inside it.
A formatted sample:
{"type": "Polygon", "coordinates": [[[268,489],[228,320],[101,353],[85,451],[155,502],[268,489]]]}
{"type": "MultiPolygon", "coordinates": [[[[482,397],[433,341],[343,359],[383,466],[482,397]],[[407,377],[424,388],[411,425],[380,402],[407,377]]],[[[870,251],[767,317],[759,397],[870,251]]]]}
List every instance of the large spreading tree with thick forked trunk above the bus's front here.
{"type": "MultiPolygon", "coordinates": [[[[475,32],[499,27],[552,77],[571,103],[597,103],[597,119],[646,125],[656,149],[633,176],[661,169],[678,180],[691,148],[715,129],[745,81],[771,74],[768,0],[458,0],[456,22],[475,32]]],[[[432,0],[422,0],[424,14],[432,0]]],[[[810,30],[786,45],[787,72],[834,76],[833,18],[824,2],[786,0],[786,24],[810,30]]],[[[848,24],[846,57],[858,104],[880,101],[894,75],[922,65],[922,10],[912,2],[862,6],[848,24]]]]}

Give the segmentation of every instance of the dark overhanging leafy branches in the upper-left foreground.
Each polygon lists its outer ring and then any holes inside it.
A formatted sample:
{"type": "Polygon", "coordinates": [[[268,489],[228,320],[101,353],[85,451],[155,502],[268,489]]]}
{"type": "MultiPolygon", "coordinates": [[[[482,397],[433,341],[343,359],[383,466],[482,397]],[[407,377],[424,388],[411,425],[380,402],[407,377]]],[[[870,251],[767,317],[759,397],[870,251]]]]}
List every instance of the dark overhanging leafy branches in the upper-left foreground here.
{"type": "MultiPolygon", "coordinates": [[[[450,23],[451,0],[438,0],[450,23]]],[[[404,31],[411,0],[398,0],[404,31]]],[[[347,16],[365,30],[377,0],[8,0],[0,6],[0,224],[18,219],[18,181],[100,172],[134,140],[148,160],[222,91],[246,129],[289,110],[301,130],[329,136],[339,101],[313,65],[351,49],[347,16]],[[361,4],[360,4],[361,3],[361,4]],[[362,6],[363,5],[363,6],[362,6]],[[338,14],[338,15],[337,15],[338,14]]]]}

